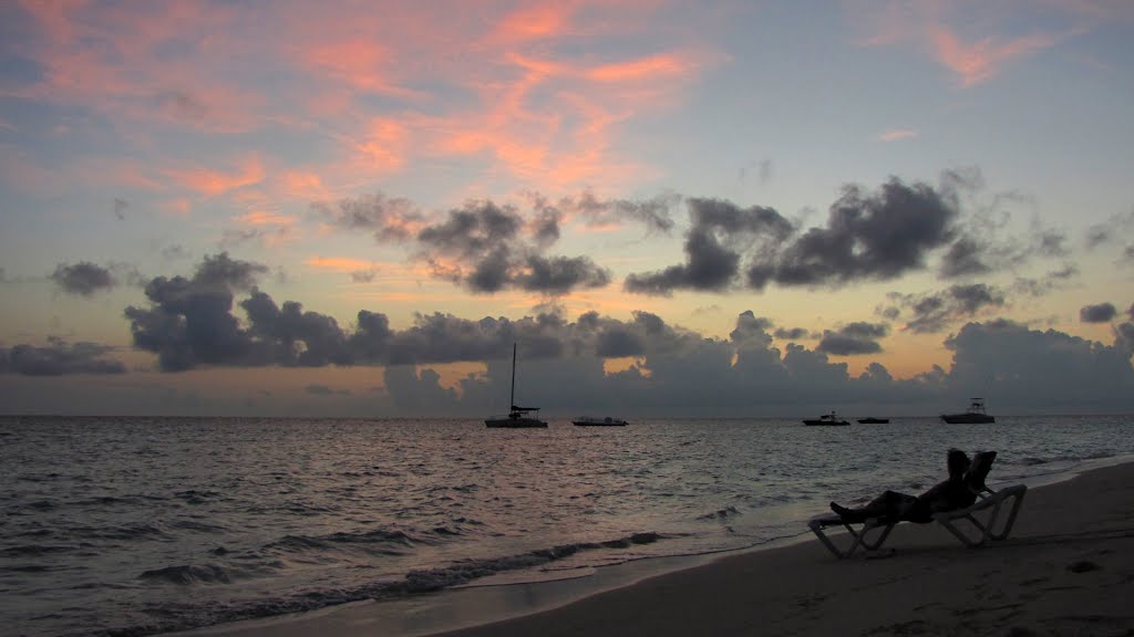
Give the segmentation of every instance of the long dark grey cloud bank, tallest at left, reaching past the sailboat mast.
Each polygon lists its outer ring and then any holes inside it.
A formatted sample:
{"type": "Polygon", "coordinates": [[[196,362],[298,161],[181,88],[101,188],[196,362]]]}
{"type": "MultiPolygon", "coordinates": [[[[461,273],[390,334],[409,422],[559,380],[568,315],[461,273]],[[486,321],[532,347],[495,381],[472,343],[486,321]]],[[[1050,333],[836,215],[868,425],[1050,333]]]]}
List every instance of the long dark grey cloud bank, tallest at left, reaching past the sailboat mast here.
{"type": "MultiPolygon", "coordinates": [[[[531,286],[565,286],[552,266],[531,286]]],[[[635,313],[629,322],[584,314],[568,323],[556,313],[519,321],[480,321],[449,314],[415,315],[414,324],[393,331],[384,314],[361,311],[353,331],[333,317],[304,311],[302,304],[277,304],[252,287],[235,303],[234,292],[251,284],[263,266],[227,254],[206,257],[192,279],[159,277],[145,288],[149,307],[128,307],[134,347],[158,355],[162,371],[198,366],[408,365],[483,362],[503,356],[514,342],[527,358],[564,356],[636,356],[674,351],[699,337],[675,330],[658,316],[635,313]],[[243,309],[242,318],[234,306],[243,309]],[[646,348],[643,343],[651,343],[646,348]]],[[[569,271],[569,267],[568,267],[569,271]]]]}

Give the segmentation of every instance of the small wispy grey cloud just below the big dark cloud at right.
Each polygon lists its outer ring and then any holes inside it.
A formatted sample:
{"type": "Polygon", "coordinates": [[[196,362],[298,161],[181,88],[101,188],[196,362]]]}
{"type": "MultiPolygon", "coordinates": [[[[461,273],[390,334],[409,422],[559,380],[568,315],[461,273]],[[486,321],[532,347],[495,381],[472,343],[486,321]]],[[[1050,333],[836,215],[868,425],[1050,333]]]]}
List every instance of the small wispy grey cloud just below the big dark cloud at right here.
{"type": "Polygon", "coordinates": [[[903,329],[915,333],[940,332],[957,321],[1005,304],[1004,292],[984,283],[951,286],[945,290],[920,295],[891,292],[888,296],[894,304],[883,306],[880,313],[890,320],[897,320],[909,312],[912,316],[903,329]]]}

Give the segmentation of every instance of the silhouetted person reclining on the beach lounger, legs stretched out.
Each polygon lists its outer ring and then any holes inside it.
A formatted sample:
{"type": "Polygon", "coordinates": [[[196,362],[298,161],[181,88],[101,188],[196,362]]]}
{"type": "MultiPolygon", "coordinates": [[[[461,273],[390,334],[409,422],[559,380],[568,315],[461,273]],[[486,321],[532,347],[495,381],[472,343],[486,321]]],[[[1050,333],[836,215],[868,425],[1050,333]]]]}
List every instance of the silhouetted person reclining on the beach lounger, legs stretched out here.
{"type": "Polygon", "coordinates": [[[850,509],[837,502],[831,502],[831,510],[838,513],[845,524],[857,524],[870,518],[908,520],[925,524],[933,520],[933,513],[963,509],[976,501],[976,492],[970,487],[966,478],[972,460],[959,449],[950,449],[946,456],[949,478],[933,485],[921,495],[909,495],[896,491],[886,491],[874,498],[865,507],[850,509]]]}

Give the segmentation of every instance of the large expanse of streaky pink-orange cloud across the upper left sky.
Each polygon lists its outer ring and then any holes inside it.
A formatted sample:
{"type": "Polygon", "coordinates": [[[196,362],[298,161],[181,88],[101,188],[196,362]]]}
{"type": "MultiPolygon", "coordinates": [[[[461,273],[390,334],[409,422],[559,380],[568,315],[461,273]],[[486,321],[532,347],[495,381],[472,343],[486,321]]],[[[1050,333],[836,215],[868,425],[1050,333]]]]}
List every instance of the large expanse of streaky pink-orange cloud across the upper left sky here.
{"type": "Polygon", "coordinates": [[[159,158],[136,171],[203,196],[255,186],[277,205],[327,199],[435,160],[464,162],[480,185],[625,186],[654,171],[620,152],[623,125],[679,104],[697,75],[725,59],[691,44],[703,36],[695,25],[682,25],[678,45],[654,36],[655,3],[593,10],[583,1],[469,1],[445,11],[389,3],[375,11],[281,0],[263,11],[195,0],[28,1],[37,37],[20,52],[44,76],[18,91],[94,109],[132,150],[155,155],[179,152],[158,148],[169,130],[185,128],[240,135],[278,127],[338,144],[331,159],[320,152],[279,175],[266,175],[259,156],[274,167],[286,160],[269,159],[263,146],[255,162],[231,169],[206,156],[195,160],[201,168],[159,158]],[[601,53],[577,53],[591,50],[601,53]]]}

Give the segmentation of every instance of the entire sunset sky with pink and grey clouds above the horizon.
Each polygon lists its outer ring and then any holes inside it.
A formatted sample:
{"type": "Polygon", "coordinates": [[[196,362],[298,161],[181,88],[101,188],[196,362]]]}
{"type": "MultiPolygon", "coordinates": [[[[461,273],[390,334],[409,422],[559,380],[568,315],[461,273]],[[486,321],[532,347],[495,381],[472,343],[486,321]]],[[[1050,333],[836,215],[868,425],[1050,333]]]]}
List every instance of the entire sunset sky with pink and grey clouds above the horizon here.
{"type": "Polygon", "coordinates": [[[0,411],[1134,411],[1126,0],[0,5],[0,411]]]}

